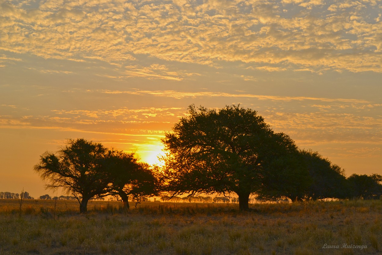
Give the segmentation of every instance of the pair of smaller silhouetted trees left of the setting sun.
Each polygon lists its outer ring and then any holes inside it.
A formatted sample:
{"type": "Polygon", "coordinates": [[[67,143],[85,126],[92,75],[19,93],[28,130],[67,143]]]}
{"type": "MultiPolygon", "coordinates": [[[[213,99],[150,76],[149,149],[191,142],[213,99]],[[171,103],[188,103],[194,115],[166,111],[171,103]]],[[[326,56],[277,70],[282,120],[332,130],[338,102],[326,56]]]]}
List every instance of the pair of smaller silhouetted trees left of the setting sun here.
{"type": "Polygon", "coordinates": [[[46,188],[63,188],[87,212],[89,200],[119,196],[128,206],[128,196],[139,200],[155,195],[158,187],[153,169],[140,164],[134,154],[107,149],[85,139],[69,139],[57,153],[45,152],[34,170],[46,181],[46,188]]]}

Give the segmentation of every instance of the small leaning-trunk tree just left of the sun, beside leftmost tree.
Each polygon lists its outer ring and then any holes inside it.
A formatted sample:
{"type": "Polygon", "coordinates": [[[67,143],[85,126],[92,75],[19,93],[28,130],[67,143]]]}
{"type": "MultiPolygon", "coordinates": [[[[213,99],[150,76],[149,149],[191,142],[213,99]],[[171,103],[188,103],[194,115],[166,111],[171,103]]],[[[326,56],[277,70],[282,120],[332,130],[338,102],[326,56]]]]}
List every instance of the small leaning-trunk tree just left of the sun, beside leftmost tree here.
{"type": "Polygon", "coordinates": [[[153,167],[139,162],[134,153],[110,151],[107,159],[109,193],[123,201],[129,209],[129,197],[138,203],[143,197],[157,195],[159,180],[153,167]]]}

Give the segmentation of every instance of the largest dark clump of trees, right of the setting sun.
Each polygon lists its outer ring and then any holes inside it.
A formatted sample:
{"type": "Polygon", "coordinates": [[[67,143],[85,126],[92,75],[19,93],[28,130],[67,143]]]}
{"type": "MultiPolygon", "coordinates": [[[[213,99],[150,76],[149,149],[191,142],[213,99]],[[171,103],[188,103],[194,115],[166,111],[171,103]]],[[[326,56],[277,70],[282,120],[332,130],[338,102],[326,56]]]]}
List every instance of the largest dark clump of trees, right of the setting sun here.
{"type": "Polygon", "coordinates": [[[352,175],[317,152],[299,149],[284,133],[274,132],[251,109],[189,106],[162,140],[167,154],[163,190],[182,194],[238,197],[248,210],[249,196],[291,201],[381,196],[381,176],[352,175]]]}

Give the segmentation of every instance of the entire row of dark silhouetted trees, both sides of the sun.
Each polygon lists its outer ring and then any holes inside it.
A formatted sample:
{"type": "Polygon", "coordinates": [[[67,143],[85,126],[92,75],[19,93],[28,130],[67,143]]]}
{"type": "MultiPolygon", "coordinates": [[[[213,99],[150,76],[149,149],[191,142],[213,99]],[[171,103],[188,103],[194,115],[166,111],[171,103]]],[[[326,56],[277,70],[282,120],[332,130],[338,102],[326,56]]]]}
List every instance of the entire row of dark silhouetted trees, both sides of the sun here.
{"type": "Polygon", "coordinates": [[[34,169],[47,188],[63,188],[78,200],[81,213],[89,200],[106,196],[123,201],[126,209],[129,199],[137,205],[161,196],[163,201],[198,203],[228,203],[231,198],[240,210],[249,210],[250,196],[295,202],[382,195],[381,175],[346,178],[340,166],[318,152],[299,149],[256,111],[235,105],[219,110],[191,105],[162,143],[163,167],[82,138],[68,140],[56,153],[44,153],[34,169]],[[208,196],[212,194],[223,196],[208,196]]]}

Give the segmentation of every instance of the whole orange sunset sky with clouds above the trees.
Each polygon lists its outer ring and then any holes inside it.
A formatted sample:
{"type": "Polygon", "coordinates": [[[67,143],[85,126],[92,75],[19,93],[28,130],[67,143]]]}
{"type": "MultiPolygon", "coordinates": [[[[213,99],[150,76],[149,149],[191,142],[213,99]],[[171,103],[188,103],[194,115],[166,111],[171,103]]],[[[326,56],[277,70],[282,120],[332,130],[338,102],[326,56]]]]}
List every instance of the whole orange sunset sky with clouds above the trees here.
{"type": "Polygon", "coordinates": [[[381,0],[0,0],[0,191],[53,195],[33,166],[68,138],[155,163],[190,104],[251,108],[347,176],[382,174],[381,15],[381,0]]]}

